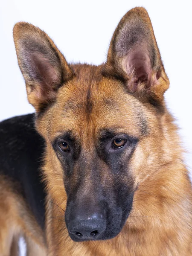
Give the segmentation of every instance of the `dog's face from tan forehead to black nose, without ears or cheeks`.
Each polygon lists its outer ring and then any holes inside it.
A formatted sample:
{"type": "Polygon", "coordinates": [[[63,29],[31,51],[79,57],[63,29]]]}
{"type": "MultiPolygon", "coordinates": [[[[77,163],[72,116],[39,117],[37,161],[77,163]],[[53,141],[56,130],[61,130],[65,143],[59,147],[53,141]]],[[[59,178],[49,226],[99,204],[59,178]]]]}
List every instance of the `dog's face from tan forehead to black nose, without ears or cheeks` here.
{"type": "MultiPolygon", "coordinates": [[[[143,121],[131,110],[139,102],[119,88],[116,81],[94,78],[95,69],[84,67],[86,80],[74,79],[69,87],[59,90],[52,106],[55,120],[49,130],[64,174],[68,197],[65,220],[75,241],[116,236],[131,210],[136,186],[129,160],[141,134],[143,121]],[[127,104],[130,101],[133,105],[127,104]],[[137,128],[131,132],[132,124],[137,128]],[[84,237],[85,227],[78,228],[79,222],[91,216],[95,216],[90,224],[95,235],[84,237]],[[77,232],[82,238],[76,236],[77,232]]],[[[81,66],[76,68],[76,73],[81,70],[81,66]]]]}

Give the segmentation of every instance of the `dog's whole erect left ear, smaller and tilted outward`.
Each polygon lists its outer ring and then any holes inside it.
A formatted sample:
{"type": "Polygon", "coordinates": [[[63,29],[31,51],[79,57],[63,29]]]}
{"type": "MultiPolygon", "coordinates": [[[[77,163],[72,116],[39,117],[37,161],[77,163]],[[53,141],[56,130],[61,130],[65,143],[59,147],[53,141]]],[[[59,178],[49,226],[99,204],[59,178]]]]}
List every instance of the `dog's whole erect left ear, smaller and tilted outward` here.
{"type": "Polygon", "coordinates": [[[19,22],[14,26],[13,36],[29,103],[40,112],[55,100],[61,84],[73,77],[73,70],[41,29],[19,22]]]}

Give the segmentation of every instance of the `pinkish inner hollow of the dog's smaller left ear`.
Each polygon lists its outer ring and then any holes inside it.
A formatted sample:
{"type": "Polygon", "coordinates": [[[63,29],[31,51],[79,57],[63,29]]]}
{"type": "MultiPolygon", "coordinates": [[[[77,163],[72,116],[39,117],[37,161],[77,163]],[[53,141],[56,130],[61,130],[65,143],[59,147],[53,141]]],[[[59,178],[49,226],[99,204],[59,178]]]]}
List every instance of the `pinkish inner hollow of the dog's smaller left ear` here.
{"type": "Polygon", "coordinates": [[[50,60],[41,53],[35,52],[31,56],[33,75],[47,86],[60,83],[57,67],[53,67],[50,60]]]}

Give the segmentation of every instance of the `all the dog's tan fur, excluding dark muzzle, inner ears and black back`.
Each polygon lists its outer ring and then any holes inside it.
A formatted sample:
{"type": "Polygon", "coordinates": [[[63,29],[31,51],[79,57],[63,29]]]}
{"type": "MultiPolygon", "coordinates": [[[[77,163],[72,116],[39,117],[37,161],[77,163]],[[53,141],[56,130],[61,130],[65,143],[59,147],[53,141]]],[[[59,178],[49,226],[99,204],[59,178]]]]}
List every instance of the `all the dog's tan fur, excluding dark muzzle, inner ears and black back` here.
{"type": "MultiPolygon", "coordinates": [[[[45,95],[45,100],[52,103],[48,110],[36,119],[37,131],[47,144],[42,168],[47,190],[45,231],[47,255],[192,255],[192,188],[188,171],[183,163],[183,150],[177,127],[164,102],[163,93],[169,87],[169,79],[146,10],[135,8],[122,18],[114,32],[107,62],[98,67],[67,64],[61,52],[58,52],[50,41],[51,47],[57,52],[61,61],[54,63],[55,70],[63,68],[67,74],[67,78],[64,78],[64,86],[60,87],[55,81],[42,83],[27,76],[22,62],[20,43],[26,35],[36,37],[40,35],[36,41],[47,42],[50,39],[44,32],[41,33],[40,29],[30,24],[15,25],[17,57],[26,80],[29,102],[39,113],[42,104],[45,103],[42,92],[47,90],[48,86],[49,93],[45,95]],[[149,43],[156,52],[150,79],[147,83],[138,82],[137,88],[133,88],[134,68],[128,65],[127,59],[125,60],[127,53],[122,57],[118,55],[118,50],[114,50],[119,31],[125,31],[127,29],[124,26],[125,22],[132,18],[139,19],[139,22],[144,24],[144,28],[147,28],[149,43]],[[125,70],[128,73],[125,73],[125,70]],[[114,79],[117,75],[118,79],[114,79]],[[125,83],[120,81],[119,77],[123,78],[125,83]],[[149,102],[151,98],[159,103],[160,108],[154,107],[149,102]],[[89,101],[91,104],[87,104],[89,101]],[[146,129],[143,123],[146,123],[146,129]],[[133,208],[122,231],[115,238],[106,241],[74,242],[68,235],[64,221],[67,194],[64,189],[63,168],[51,143],[64,131],[71,130],[79,137],[84,155],[89,159],[94,151],[94,143],[98,140],[99,130],[111,127],[139,139],[129,163],[129,172],[134,177],[133,186],[134,189],[137,188],[133,208]]],[[[132,52],[134,49],[131,49],[132,52]]],[[[52,69],[51,65],[49,69],[52,69]]],[[[102,163],[102,167],[105,170],[102,173],[103,182],[113,186],[108,166],[102,163]]],[[[76,182],[76,172],[74,169],[73,183],[76,182]]],[[[86,180],[88,184],[88,176],[86,180]]],[[[129,180],[124,180],[124,183],[128,184],[129,180]]],[[[32,244],[38,243],[45,253],[42,232],[24,205],[23,199],[12,191],[12,185],[7,184],[4,178],[0,186],[3,186],[3,190],[0,190],[4,191],[4,194],[0,195],[0,204],[3,204],[1,209],[4,212],[0,215],[0,236],[2,241],[11,237],[11,240],[0,244],[3,256],[9,255],[6,244],[10,248],[12,237],[20,232],[24,232],[31,250],[36,250],[32,244]],[[23,206],[22,210],[20,205],[23,206]],[[23,211],[27,216],[25,222],[20,217],[23,211]],[[13,223],[13,230],[8,229],[10,221],[13,223]],[[8,232],[12,235],[7,236],[8,232]]],[[[85,189],[88,189],[88,185],[85,189]]],[[[43,255],[41,250],[38,248],[35,253],[29,255],[38,255],[38,253],[43,255]]]]}

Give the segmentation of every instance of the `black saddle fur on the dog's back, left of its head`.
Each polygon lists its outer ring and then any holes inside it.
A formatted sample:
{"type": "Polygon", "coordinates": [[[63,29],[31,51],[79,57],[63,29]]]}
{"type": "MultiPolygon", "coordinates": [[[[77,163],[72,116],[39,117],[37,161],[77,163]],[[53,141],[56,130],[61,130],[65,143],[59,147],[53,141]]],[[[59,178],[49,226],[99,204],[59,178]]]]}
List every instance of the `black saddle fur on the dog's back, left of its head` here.
{"type": "Polygon", "coordinates": [[[0,123],[0,174],[20,184],[21,193],[44,229],[44,184],[40,168],[44,140],[35,131],[35,114],[16,116],[0,123]]]}

